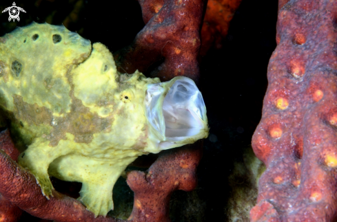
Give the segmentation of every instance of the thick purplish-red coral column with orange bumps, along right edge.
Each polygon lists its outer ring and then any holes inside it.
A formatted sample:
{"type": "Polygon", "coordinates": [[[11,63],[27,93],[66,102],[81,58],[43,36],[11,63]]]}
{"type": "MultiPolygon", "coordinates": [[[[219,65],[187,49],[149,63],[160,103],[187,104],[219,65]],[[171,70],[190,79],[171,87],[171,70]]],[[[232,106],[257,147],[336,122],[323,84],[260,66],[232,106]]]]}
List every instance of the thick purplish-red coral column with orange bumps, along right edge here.
{"type": "Polygon", "coordinates": [[[251,221],[336,221],[337,1],[279,1],[251,221]]]}

